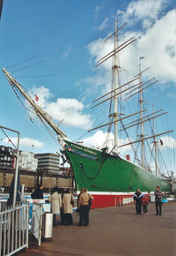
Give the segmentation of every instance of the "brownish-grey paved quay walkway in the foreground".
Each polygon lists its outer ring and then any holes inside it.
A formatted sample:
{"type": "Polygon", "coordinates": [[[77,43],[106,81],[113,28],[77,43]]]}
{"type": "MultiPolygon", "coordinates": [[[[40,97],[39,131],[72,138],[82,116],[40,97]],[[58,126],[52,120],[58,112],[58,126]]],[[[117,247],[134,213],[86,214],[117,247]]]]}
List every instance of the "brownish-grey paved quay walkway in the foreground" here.
{"type": "Polygon", "coordinates": [[[73,218],[74,226],[54,228],[52,241],[18,255],[176,255],[175,202],[165,203],[161,216],[150,204],[149,215],[136,215],[134,205],[91,210],[89,227],[77,227],[73,218]]]}

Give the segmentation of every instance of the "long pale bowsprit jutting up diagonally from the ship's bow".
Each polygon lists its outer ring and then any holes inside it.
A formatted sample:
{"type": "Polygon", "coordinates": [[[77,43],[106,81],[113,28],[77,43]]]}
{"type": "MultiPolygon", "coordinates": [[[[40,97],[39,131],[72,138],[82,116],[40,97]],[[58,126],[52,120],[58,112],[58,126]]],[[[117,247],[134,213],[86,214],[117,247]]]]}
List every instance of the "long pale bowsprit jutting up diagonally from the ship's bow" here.
{"type": "Polygon", "coordinates": [[[26,98],[26,101],[29,102],[32,106],[38,117],[42,117],[56,132],[56,134],[59,136],[59,143],[63,147],[64,142],[63,139],[68,139],[68,137],[57,127],[57,125],[53,122],[51,117],[48,116],[47,112],[44,109],[41,109],[39,105],[37,105],[33,99],[26,93],[26,91],[19,85],[19,83],[14,79],[9,72],[7,72],[5,69],[3,69],[3,72],[8,79],[10,85],[12,87],[17,87],[19,92],[23,94],[26,98]]]}

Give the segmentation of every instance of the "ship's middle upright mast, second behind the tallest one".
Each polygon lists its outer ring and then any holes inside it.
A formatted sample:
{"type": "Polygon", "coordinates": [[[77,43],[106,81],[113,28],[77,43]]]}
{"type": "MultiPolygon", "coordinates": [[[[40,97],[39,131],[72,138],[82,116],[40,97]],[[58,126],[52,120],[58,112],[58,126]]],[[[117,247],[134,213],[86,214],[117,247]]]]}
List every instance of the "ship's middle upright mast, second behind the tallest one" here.
{"type": "Polygon", "coordinates": [[[144,148],[144,134],[143,134],[143,81],[142,81],[142,75],[141,75],[141,59],[143,57],[139,57],[139,83],[140,83],[140,87],[141,87],[141,92],[140,92],[140,106],[141,106],[141,144],[142,144],[142,166],[143,168],[145,168],[145,148],[144,148]]]}

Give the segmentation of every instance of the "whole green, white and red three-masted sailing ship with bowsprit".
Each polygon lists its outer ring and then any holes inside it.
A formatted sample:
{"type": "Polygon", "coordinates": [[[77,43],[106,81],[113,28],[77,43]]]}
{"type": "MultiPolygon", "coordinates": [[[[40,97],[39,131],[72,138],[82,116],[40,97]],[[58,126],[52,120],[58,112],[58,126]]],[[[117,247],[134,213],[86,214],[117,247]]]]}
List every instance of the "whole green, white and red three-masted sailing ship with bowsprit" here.
{"type": "MultiPolygon", "coordinates": [[[[124,26],[124,25],[123,25],[124,26]]],[[[61,154],[62,159],[70,163],[70,168],[72,169],[75,177],[75,187],[77,192],[81,190],[82,187],[86,187],[89,192],[92,193],[95,200],[93,202],[93,207],[110,207],[114,206],[114,201],[120,198],[132,197],[132,194],[136,192],[137,188],[140,188],[143,192],[154,192],[156,185],[160,185],[163,192],[171,192],[171,181],[167,177],[161,177],[158,171],[157,162],[157,150],[158,150],[158,140],[157,138],[163,134],[173,132],[167,131],[156,134],[155,132],[155,118],[159,117],[165,112],[158,114],[158,111],[154,111],[148,115],[145,114],[146,109],[143,106],[143,90],[150,87],[156,81],[150,79],[143,82],[142,74],[144,71],[141,70],[141,58],[139,58],[139,72],[138,74],[130,79],[124,84],[120,84],[120,70],[121,65],[119,63],[119,52],[131,43],[135,41],[134,38],[128,39],[128,41],[120,42],[118,41],[119,30],[123,27],[117,27],[117,17],[115,18],[115,29],[114,33],[108,36],[107,40],[112,40],[114,36],[114,49],[110,51],[106,56],[99,59],[99,63],[103,64],[106,60],[112,59],[112,73],[113,82],[111,91],[101,95],[93,103],[92,108],[99,107],[101,103],[110,102],[111,110],[109,113],[109,122],[107,124],[101,124],[98,127],[93,128],[89,132],[96,129],[107,126],[107,136],[110,133],[110,128],[114,126],[114,146],[108,147],[108,139],[102,148],[87,147],[84,143],[74,142],[68,138],[68,136],[62,132],[60,127],[58,127],[48,113],[40,107],[40,105],[33,100],[33,98],[26,93],[26,90],[20,86],[18,81],[11,76],[10,72],[3,69],[3,72],[8,79],[12,89],[20,94],[23,94],[36,115],[40,118],[42,122],[47,122],[47,124],[55,131],[58,135],[58,143],[62,147],[61,154]],[[138,95],[138,101],[140,109],[133,114],[126,116],[124,113],[120,112],[119,108],[119,98],[126,95],[126,99],[138,95]],[[127,96],[128,95],[128,96],[127,96]],[[112,108],[112,106],[114,107],[112,108]],[[128,119],[139,117],[133,121],[128,121],[128,119]],[[146,136],[144,133],[144,123],[152,120],[153,121],[153,134],[146,136]],[[124,124],[124,122],[127,122],[124,124]],[[121,127],[120,125],[121,124],[121,127]],[[138,134],[138,139],[132,141],[128,137],[127,130],[133,126],[139,125],[140,132],[138,134]],[[128,140],[124,145],[120,145],[119,132],[125,131],[126,138],[128,140]],[[155,149],[155,174],[149,169],[149,166],[145,164],[145,147],[144,143],[148,139],[152,139],[153,147],[155,149]],[[135,145],[139,145],[141,148],[141,159],[137,159],[136,162],[130,161],[130,155],[126,155],[126,158],[121,157],[122,147],[131,147],[134,149],[132,154],[134,159],[137,158],[135,145]]],[[[147,70],[147,69],[146,69],[147,70]]],[[[124,100],[124,101],[125,101],[124,100]]],[[[132,158],[132,156],[131,156],[132,158]]]]}

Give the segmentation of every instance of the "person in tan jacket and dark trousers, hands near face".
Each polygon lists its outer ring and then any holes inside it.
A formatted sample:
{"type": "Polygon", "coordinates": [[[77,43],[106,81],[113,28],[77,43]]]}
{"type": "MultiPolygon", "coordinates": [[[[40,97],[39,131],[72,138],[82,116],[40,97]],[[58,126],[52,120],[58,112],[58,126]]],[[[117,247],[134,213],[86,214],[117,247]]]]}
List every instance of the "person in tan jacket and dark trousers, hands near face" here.
{"type": "Polygon", "coordinates": [[[80,220],[78,226],[89,226],[89,210],[90,210],[90,200],[94,200],[93,196],[88,194],[87,189],[84,188],[83,192],[79,196],[78,209],[80,220]]]}

